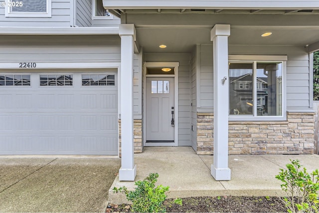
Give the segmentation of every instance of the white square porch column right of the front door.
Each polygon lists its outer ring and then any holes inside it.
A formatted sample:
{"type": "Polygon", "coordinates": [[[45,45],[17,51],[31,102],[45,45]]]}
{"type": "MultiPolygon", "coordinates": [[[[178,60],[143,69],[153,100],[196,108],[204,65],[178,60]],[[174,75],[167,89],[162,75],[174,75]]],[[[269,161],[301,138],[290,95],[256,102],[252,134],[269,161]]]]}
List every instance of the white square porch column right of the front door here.
{"type": "Polygon", "coordinates": [[[214,162],[211,175],[216,181],[230,180],[228,168],[228,36],[229,24],[216,24],[210,31],[214,71],[214,162]]]}

